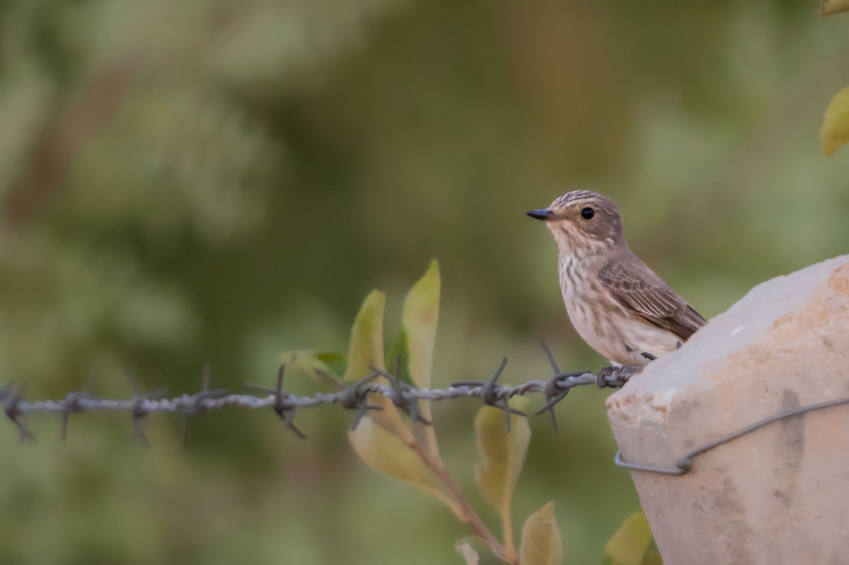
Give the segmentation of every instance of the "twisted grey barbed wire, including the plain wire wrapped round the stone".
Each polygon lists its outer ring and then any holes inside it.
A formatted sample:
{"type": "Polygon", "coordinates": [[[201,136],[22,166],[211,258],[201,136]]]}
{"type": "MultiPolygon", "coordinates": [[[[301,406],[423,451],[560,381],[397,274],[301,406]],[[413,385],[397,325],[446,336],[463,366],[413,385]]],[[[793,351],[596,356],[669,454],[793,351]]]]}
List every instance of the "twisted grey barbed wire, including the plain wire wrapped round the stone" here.
{"type": "MultiPolygon", "coordinates": [[[[543,350],[548,356],[553,374],[546,380],[530,380],[515,386],[504,386],[498,384],[504,368],[507,366],[507,357],[504,357],[492,377],[486,380],[458,381],[452,383],[446,389],[416,389],[409,383],[402,381],[398,375],[400,372],[400,359],[396,360],[393,372],[386,371],[377,366],[370,366],[371,372],[356,383],[345,383],[327,373],[317,371],[319,375],[334,383],[338,388],[335,392],[316,393],[311,396],[298,396],[283,388],[286,366],[280,366],[277,375],[277,385],[268,389],[261,385],[245,383],[250,389],[256,389],[266,394],[258,396],[255,394],[231,394],[228,389],[210,389],[210,372],[207,366],[204,371],[200,392],[195,394],[183,394],[174,398],[164,398],[165,389],[142,393],[132,374],[125,372],[127,380],[132,386],[134,396],[125,400],[113,400],[98,398],[87,391],[74,391],[65,394],[65,398],[59,400],[26,400],[22,389],[9,383],[0,389],[0,405],[6,417],[18,428],[21,442],[35,440],[33,434],[26,427],[28,414],[36,412],[53,412],[62,415],[61,437],[66,439],[68,434],[68,420],[70,414],[78,414],[86,411],[125,411],[132,417],[133,434],[144,445],[147,439],[144,436],[144,422],[146,418],[155,412],[172,412],[186,416],[183,443],[188,439],[188,421],[190,417],[207,411],[223,410],[230,406],[241,406],[253,410],[271,409],[294,434],[306,439],[297,425],[295,425],[295,412],[301,408],[312,408],[335,404],[351,411],[356,415],[351,422],[351,429],[357,428],[357,424],[368,411],[381,410],[380,406],[369,404],[371,394],[382,394],[390,399],[392,403],[402,411],[408,413],[413,422],[421,422],[432,425],[421,416],[419,411],[420,400],[447,400],[459,397],[473,397],[481,400],[485,405],[496,406],[504,411],[504,427],[510,431],[510,415],[517,414],[526,417],[524,411],[510,406],[510,399],[514,396],[525,396],[528,394],[543,394],[545,404],[534,412],[535,416],[548,412],[551,418],[551,427],[557,434],[557,416],[554,407],[563,400],[571,389],[587,384],[597,384],[599,387],[619,388],[627,383],[628,379],[639,372],[639,366],[605,366],[599,372],[570,371],[561,372],[557,361],[554,360],[548,345],[543,343],[543,350]],[[385,381],[378,379],[385,378],[385,381]],[[387,383],[388,381],[388,383],[387,383]]],[[[654,360],[655,356],[649,353],[643,354],[647,359],[654,360]]],[[[655,467],[628,462],[621,453],[616,451],[614,462],[620,467],[635,471],[650,473],[661,473],[666,475],[683,475],[689,473],[693,467],[693,458],[717,445],[722,445],[745,434],[751,434],[758,428],[762,428],[772,422],[778,422],[788,417],[796,417],[808,411],[821,410],[832,406],[849,404],[849,397],[819,402],[809,406],[800,406],[790,410],[779,412],[773,416],[753,422],[745,428],[740,428],[731,434],[723,435],[706,444],[699,445],[684,454],[676,462],[675,467],[655,467]]]]}

